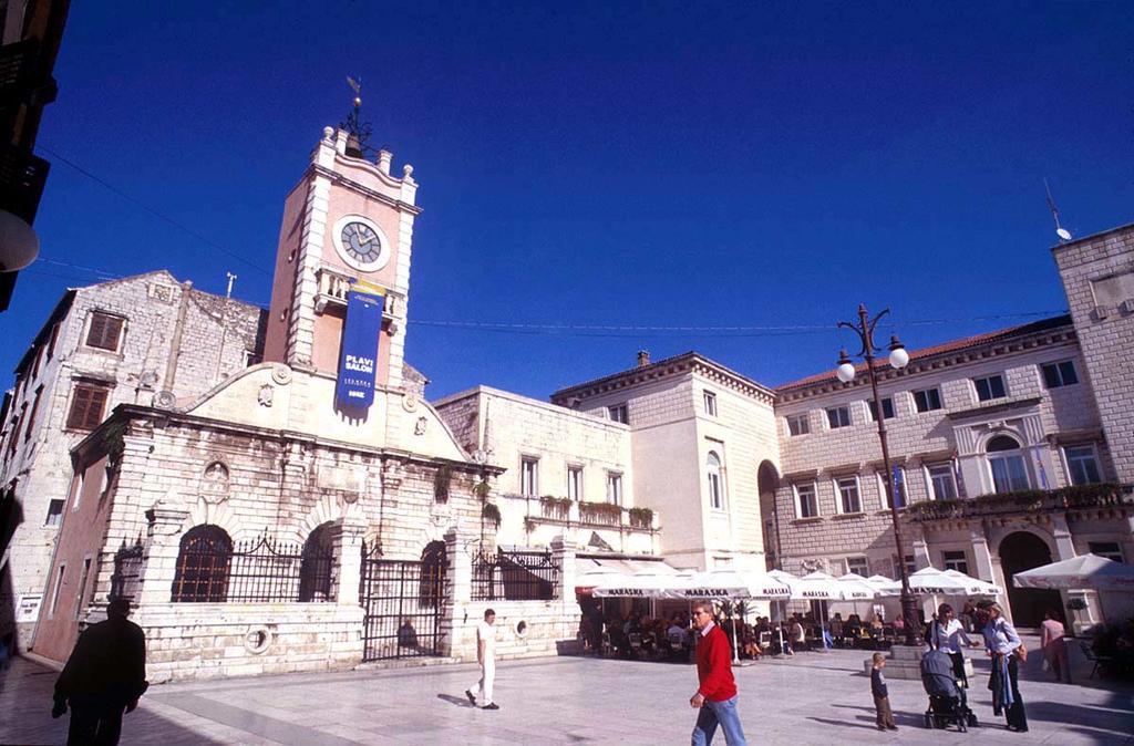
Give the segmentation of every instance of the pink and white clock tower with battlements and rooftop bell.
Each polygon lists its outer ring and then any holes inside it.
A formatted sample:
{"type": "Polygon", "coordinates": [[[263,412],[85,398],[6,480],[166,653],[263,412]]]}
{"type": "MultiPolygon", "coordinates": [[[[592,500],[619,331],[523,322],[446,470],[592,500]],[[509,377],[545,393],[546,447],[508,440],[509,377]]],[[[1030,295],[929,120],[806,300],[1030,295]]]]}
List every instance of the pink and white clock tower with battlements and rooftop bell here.
{"type": "Polygon", "coordinates": [[[390,175],[392,154],[366,160],[356,111],[323,129],[284,205],[264,361],[316,375],[339,372],[348,293],[380,296],[374,389],[403,385],[409,260],[417,184],[413,167],[390,175]]]}

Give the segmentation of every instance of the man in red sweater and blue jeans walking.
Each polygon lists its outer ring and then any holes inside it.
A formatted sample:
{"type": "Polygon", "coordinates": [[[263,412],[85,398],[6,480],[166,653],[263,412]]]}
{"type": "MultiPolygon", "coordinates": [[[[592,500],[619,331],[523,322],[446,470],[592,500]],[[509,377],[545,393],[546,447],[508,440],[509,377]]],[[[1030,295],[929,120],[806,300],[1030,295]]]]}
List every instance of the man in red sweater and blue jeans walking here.
{"type": "Polygon", "coordinates": [[[728,746],[747,746],[741,715],[736,712],[736,679],[733,678],[733,651],[716,620],[711,601],[693,604],[693,626],[697,628],[697,679],[701,686],[689,698],[695,707],[697,724],[693,728],[693,746],[709,746],[717,726],[725,731],[728,746]]]}

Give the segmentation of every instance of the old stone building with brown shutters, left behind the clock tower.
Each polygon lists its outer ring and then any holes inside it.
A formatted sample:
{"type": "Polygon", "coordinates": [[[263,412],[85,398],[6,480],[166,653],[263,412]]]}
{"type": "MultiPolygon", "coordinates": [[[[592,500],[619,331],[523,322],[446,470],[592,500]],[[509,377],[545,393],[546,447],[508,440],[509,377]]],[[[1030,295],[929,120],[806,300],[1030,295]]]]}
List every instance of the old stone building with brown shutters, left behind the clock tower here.
{"type": "Polygon", "coordinates": [[[71,480],[69,450],[119,404],[171,406],[255,359],[266,314],[156,271],[68,290],[0,412],[5,626],[26,650],[71,480]]]}

